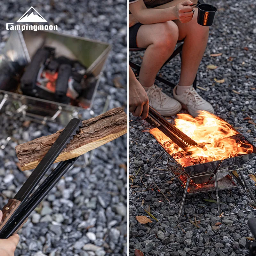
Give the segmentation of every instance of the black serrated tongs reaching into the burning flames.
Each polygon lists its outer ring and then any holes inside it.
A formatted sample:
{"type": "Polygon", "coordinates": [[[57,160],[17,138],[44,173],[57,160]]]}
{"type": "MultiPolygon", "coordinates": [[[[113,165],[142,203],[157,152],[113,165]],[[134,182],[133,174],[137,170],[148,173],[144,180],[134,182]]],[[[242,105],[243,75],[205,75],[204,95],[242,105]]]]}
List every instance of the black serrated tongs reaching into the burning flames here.
{"type": "Polygon", "coordinates": [[[184,151],[187,151],[188,147],[192,145],[197,145],[196,141],[189,138],[185,133],[181,132],[177,127],[168,122],[151,106],[148,108],[148,117],[146,118],[146,121],[152,126],[157,127],[184,151]]]}

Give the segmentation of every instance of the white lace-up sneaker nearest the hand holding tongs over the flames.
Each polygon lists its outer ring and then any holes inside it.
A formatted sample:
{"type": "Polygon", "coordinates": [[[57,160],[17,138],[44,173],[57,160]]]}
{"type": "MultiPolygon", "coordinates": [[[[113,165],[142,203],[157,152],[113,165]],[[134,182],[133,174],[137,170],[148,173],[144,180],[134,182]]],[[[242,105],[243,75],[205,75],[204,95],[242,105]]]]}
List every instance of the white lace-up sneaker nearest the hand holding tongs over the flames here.
{"type": "Polygon", "coordinates": [[[147,95],[149,105],[155,108],[162,116],[176,115],[181,109],[179,101],[167,96],[162,92],[162,88],[155,84],[149,87],[147,95]]]}

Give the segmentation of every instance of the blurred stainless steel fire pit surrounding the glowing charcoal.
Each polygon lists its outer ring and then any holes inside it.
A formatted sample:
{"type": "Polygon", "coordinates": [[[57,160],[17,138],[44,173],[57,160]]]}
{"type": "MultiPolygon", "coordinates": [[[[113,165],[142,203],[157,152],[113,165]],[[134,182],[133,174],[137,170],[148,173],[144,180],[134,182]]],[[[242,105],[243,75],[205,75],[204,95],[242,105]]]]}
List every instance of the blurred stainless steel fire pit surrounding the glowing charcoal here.
{"type": "Polygon", "coordinates": [[[44,46],[55,48],[56,57],[64,56],[78,60],[86,67],[85,76],[88,78],[81,84],[86,88],[86,94],[78,99],[81,107],[23,95],[19,90],[14,89],[20,82],[20,70],[15,70],[12,65],[10,69],[14,73],[14,79],[11,83],[6,83],[4,86],[4,81],[0,80],[0,109],[9,105],[6,108],[7,112],[22,113],[37,122],[45,123],[46,120],[51,120],[66,125],[71,118],[79,117],[79,113],[91,110],[111,46],[56,32],[14,30],[1,52],[0,71],[10,66],[10,63],[27,65],[36,51],[44,46]]]}

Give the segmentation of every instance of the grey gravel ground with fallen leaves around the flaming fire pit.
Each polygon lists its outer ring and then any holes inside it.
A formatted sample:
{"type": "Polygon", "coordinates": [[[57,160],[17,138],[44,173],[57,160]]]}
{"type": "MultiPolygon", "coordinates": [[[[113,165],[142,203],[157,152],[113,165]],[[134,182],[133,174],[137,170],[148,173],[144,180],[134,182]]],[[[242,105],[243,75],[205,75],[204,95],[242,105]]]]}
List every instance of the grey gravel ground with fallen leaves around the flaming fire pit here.
{"type": "MultiPolygon", "coordinates": [[[[256,66],[256,30],[255,30],[255,2],[246,0],[243,2],[243,10],[239,3],[234,0],[228,1],[207,1],[218,7],[215,21],[210,29],[209,44],[205,56],[198,71],[197,85],[204,88],[197,89],[200,95],[209,100],[216,115],[224,118],[234,125],[239,132],[255,144],[256,129],[254,124],[249,124],[245,117],[250,116],[252,121],[256,120],[256,90],[255,90],[255,66],[256,66]],[[246,15],[245,15],[246,13],[246,15]],[[212,53],[222,53],[219,57],[211,57],[212,53]],[[207,65],[218,66],[215,70],[208,70],[207,65]],[[225,79],[220,84],[214,79],[225,79]]],[[[132,53],[130,58],[141,62],[141,53],[132,53]]],[[[142,55],[141,55],[142,56],[142,55]]],[[[169,65],[166,65],[160,73],[177,83],[180,70],[180,58],[176,57],[169,65]]],[[[172,89],[168,86],[157,83],[163,87],[164,92],[172,95],[172,89]]],[[[129,189],[129,255],[134,255],[134,249],[139,249],[145,255],[185,256],[185,255],[248,255],[245,244],[248,242],[245,237],[252,237],[247,226],[247,220],[254,217],[254,213],[243,213],[241,209],[252,209],[249,205],[252,202],[244,193],[244,189],[238,187],[234,190],[220,191],[221,209],[224,212],[238,212],[237,215],[230,215],[223,218],[212,218],[201,221],[200,228],[192,224],[184,224],[185,217],[181,218],[180,226],[177,227],[177,213],[183,188],[174,181],[172,184],[164,182],[166,176],[154,179],[171,201],[170,210],[164,197],[156,191],[149,190],[138,192],[144,189],[140,182],[140,174],[146,170],[161,152],[161,147],[156,140],[148,133],[142,132],[148,126],[142,125],[145,122],[139,118],[130,116],[129,123],[129,174],[138,175],[133,179],[133,185],[139,188],[129,189]],[[144,204],[142,204],[144,200],[144,204]],[[153,223],[141,225],[135,216],[147,215],[144,209],[148,210],[159,221],[150,218],[153,223]],[[215,225],[221,222],[220,226],[215,225]],[[182,229],[183,230],[182,230],[182,229]]],[[[164,169],[167,158],[162,157],[149,174],[159,169],[164,169]]],[[[256,160],[252,159],[241,167],[245,179],[252,186],[255,194],[254,182],[248,178],[248,174],[256,172],[256,160]]],[[[168,179],[167,179],[168,180],[168,179]]],[[[153,179],[144,179],[149,185],[153,179]]],[[[131,182],[130,182],[131,185],[131,182]]],[[[216,199],[214,193],[188,196],[182,216],[211,217],[218,215],[216,203],[206,202],[203,199],[216,199]]]]}

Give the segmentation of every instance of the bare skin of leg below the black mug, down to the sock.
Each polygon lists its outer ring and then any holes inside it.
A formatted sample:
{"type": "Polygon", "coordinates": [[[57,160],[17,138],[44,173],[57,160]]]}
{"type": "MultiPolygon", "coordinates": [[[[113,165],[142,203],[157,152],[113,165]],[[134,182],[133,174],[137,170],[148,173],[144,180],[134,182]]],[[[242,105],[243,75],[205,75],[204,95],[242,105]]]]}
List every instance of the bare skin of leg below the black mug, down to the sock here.
{"type": "Polygon", "coordinates": [[[208,42],[209,27],[197,23],[197,8],[193,19],[187,23],[175,20],[179,28],[179,40],[184,39],[181,56],[180,86],[193,84],[199,64],[208,42]]]}

